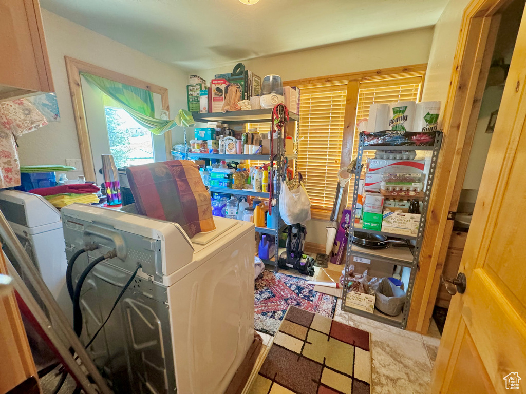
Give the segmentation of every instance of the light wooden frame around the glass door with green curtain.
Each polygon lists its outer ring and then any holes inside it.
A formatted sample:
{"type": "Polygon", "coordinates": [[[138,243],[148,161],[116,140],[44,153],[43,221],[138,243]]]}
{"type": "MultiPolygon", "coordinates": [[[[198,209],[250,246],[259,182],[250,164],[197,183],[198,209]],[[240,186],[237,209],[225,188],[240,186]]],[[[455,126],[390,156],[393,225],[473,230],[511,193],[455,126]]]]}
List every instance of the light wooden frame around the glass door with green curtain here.
{"type": "MultiPolygon", "coordinates": [[[[69,92],[73,104],[73,115],[75,118],[75,125],[77,128],[78,146],[80,149],[80,159],[84,169],[84,176],[86,181],[96,181],[95,165],[92,157],[92,147],[89,142],[88,123],[86,120],[86,111],[84,109],[84,99],[82,97],[82,85],[80,83],[80,72],[88,72],[97,77],[110,79],[121,84],[135,86],[140,89],[148,90],[152,93],[161,96],[161,107],[170,113],[170,105],[168,101],[168,89],[158,85],[149,84],[143,80],[128,77],[120,74],[120,72],[108,70],[103,67],[95,66],[85,61],[74,59],[69,56],[64,56],[66,61],[66,72],[69,83],[69,92]]],[[[171,155],[171,132],[164,133],[166,157],[171,155]]]]}

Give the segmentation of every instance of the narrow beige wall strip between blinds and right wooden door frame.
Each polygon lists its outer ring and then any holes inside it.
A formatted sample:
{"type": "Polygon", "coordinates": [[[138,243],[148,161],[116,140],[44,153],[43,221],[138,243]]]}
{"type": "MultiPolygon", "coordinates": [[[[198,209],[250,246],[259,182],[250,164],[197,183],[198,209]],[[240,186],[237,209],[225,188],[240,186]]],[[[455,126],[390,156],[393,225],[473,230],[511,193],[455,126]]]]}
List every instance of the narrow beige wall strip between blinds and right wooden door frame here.
{"type": "Polygon", "coordinates": [[[422,100],[439,100],[442,102],[442,108],[448,97],[462,14],[469,2],[470,0],[450,0],[434,26],[422,100]]]}

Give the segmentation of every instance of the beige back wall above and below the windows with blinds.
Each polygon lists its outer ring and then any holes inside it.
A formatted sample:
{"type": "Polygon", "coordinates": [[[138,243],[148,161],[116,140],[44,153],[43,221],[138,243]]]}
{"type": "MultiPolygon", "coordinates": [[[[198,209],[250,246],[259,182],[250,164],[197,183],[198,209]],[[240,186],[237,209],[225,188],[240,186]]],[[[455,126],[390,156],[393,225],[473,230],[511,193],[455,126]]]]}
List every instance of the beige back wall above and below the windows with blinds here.
{"type": "MultiPolygon", "coordinates": [[[[433,28],[428,27],[285,55],[256,58],[243,63],[260,77],[277,74],[283,80],[408,66],[427,63],[432,37],[433,28]]],[[[231,72],[234,65],[198,70],[196,73],[209,82],[214,74],[231,72]]],[[[334,187],[336,189],[336,184],[334,187]]],[[[325,245],[327,223],[328,221],[316,219],[308,221],[306,240],[325,245]]]]}

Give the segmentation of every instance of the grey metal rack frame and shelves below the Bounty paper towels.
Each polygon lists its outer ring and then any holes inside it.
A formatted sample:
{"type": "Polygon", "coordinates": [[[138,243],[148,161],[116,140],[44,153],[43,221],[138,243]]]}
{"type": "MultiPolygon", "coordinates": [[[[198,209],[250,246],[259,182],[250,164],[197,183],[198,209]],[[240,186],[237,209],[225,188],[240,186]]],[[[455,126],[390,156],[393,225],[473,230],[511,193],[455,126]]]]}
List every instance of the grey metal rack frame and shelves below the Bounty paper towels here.
{"type": "Polygon", "coordinates": [[[374,258],[375,260],[382,262],[382,263],[392,264],[393,266],[400,265],[402,267],[408,267],[411,269],[411,274],[409,277],[409,285],[405,289],[407,300],[403,306],[402,313],[398,316],[389,316],[389,315],[385,315],[381,313],[376,308],[374,310],[374,313],[369,313],[369,312],[365,312],[363,310],[356,309],[356,308],[346,305],[347,287],[349,285],[348,276],[345,276],[345,282],[343,286],[342,303],[341,303],[342,310],[345,310],[346,312],[351,312],[353,314],[360,315],[363,317],[367,317],[372,320],[376,320],[377,322],[386,323],[386,324],[389,324],[395,327],[399,327],[402,329],[406,328],[407,318],[409,315],[409,308],[411,305],[411,296],[413,292],[414,279],[416,277],[417,270],[418,270],[420,248],[422,246],[424,229],[426,227],[426,218],[427,218],[427,211],[428,211],[428,205],[429,205],[429,198],[431,195],[431,187],[433,185],[434,172],[437,167],[438,153],[440,151],[441,143],[442,143],[442,132],[437,131],[433,146],[426,146],[426,147],[423,147],[423,146],[402,146],[402,147],[365,146],[364,145],[364,135],[363,133],[360,133],[358,154],[356,158],[357,173],[355,177],[355,184],[354,184],[354,189],[353,189],[354,193],[353,193],[353,198],[352,198],[353,217],[355,217],[356,203],[357,203],[358,192],[359,192],[358,189],[359,189],[360,175],[361,175],[361,170],[363,169],[363,166],[362,166],[363,151],[365,150],[431,151],[431,158],[430,158],[431,163],[429,166],[429,173],[427,174],[427,182],[426,182],[426,187],[424,189],[424,196],[422,199],[422,209],[420,211],[420,222],[418,224],[418,231],[417,231],[416,236],[400,235],[400,234],[393,234],[389,232],[360,229],[358,227],[356,228],[357,231],[361,231],[365,233],[386,235],[386,236],[391,236],[391,237],[396,237],[402,240],[406,240],[408,245],[410,242],[414,242],[414,248],[412,250],[409,247],[407,248],[406,247],[390,247],[390,248],[380,249],[380,250],[369,250],[366,248],[362,248],[352,243],[352,235],[355,232],[355,221],[354,220],[351,221],[352,225],[349,229],[349,238],[347,240],[347,257],[346,257],[346,263],[345,263],[345,272],[349,271],[349,265],[352,264],[351,255],[356,256],[356,257],[368,258],[368,259],[374,258]]]}

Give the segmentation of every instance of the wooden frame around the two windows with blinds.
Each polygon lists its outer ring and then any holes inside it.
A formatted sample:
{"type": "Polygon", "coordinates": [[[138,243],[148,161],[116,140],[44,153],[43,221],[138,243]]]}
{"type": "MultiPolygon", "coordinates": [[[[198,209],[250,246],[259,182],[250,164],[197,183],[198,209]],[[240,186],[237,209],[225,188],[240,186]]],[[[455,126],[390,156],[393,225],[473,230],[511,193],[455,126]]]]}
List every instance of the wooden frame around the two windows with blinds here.
{"type": "MultiPolygon", "coordinates": [[[[352,144],[356,129],[356,112],[358,108],[358,89],[360,81],[376,79],[378,77],[389,77],[395,75],[410,75],[413,73],[423,73],[422,85],[426,78],[427,63],[416,64],[404,67],[382,68],[377,70],[368,70],[360,72],[351,72],[349,74],[328,75],[316,78],[304,78],[284,81],[284,86],[313,85],[324,84],[328,82],[347,81],[347,95],[345,103],[345,117],[343,121],[343,137],[341,142],[340,168],[347,167],[351,161],[352,144]]],[[[301,93],[300,93],[301,103],[301,93]]],[[[301,119],[300,119],[301,122],[301,119]]],[[[335,185],[336,188],[336,185],[335,185]]],[[[342,196],[342,201],[347,201],[347,190],[342,196]]],[[[345,205],[345,204],[343,204],[345,205]]],[[[340,207],[340,212],[345,206],[340,207]]],[[[311,209],[312,219],[328,220],[330,212],[320,209],[311,209]]]]}

